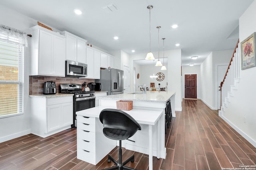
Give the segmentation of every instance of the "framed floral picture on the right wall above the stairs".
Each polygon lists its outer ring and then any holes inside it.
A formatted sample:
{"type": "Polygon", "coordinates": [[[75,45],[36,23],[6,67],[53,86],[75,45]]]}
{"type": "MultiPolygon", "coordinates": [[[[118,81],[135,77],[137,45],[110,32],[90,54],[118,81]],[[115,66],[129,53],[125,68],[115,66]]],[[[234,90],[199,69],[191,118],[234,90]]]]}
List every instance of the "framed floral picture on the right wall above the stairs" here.
{"type": "Polygon", "coordinates": [[[241,42],[241,69],[251,68],[256,66],[255,61],[255,34],[252,33],[244,41],[241,42]]]}

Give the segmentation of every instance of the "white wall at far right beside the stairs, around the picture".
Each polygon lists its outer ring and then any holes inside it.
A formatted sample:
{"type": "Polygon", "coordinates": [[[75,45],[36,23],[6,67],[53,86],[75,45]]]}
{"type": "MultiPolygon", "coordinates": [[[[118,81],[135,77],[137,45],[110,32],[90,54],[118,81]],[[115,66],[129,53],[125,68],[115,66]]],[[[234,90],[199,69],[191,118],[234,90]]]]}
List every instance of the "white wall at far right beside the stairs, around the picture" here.
{"type": "MultiPolygon", "coordinates": [[[[256,1],[242,14],[239,19],[240,42],[256,31],[256,1]]],[[[240,132],[256,147],[256,67],[241,70],[238,90],[234,91],[228,107],[223,115],[224,119],[240,132]]]]}

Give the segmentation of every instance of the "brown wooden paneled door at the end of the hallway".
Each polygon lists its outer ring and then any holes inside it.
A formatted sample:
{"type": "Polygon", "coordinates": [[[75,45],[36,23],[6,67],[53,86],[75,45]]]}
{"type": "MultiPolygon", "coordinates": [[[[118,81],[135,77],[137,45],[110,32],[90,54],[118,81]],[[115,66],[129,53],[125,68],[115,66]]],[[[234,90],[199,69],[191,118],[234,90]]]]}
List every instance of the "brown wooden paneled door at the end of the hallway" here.
{"type": "Polygon", "coordinates": [[[196,74],[185,74],[185,98],[197,98],[196,74]]]}

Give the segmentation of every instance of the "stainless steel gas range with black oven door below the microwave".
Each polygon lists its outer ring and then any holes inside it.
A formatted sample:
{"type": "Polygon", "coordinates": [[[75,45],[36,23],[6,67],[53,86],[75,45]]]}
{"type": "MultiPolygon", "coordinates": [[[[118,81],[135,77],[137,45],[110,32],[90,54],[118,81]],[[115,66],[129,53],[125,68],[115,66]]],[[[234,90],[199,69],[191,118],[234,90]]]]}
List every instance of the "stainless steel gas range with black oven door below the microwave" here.
{"type": "Polygon", "coordinates": [[[76,111],[95,107],[95,92],[82,92],[80,84],[60,84],[60,92],[74,94],[73,125],[71,127],[76,127],[76,111]]]}

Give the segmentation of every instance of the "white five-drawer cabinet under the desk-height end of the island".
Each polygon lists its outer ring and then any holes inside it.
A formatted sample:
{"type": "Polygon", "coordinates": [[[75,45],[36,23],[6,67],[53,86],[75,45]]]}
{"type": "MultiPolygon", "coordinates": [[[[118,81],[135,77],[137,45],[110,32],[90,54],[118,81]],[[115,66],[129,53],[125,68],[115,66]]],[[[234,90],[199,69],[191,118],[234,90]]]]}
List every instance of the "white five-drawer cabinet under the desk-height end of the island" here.
{"type": "Polygon", "coordinates": [[[77,158],[96,165],[116,147],[116,141],[104,136],[99,118],[78,115],[77,121],[77,158]]]}

